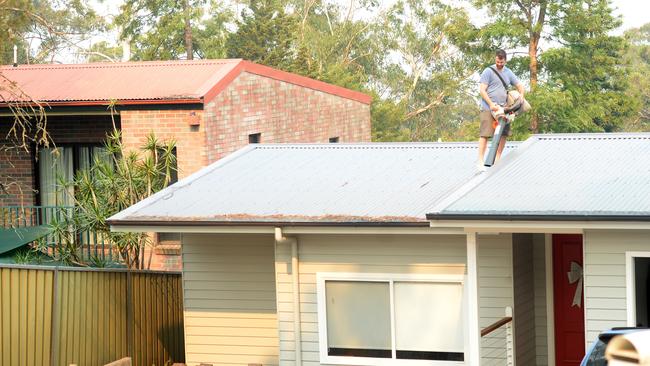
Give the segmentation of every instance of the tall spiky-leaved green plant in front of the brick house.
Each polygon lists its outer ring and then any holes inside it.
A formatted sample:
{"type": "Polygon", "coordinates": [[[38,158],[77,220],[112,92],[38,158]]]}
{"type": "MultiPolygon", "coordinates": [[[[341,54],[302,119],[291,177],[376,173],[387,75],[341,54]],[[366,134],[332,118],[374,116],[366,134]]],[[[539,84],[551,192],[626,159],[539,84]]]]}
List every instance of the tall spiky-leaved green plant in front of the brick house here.
{"type": "Polygon", "coordinates": [[[106,238],[129,268],[146,268],[144,247],[150,244],[146,233],[111,232],[110,216],[166,187],[176,167],[174,141],[161,143],[151,134],[141,151],[125,150],[119,131],[106,140],[107,155],[97,157],[92,167],[76,173],[72,182],[75,209],[55,222],[54,236],[59,245],[55,259],[83,265],[107,266],[98,258],[84,263],[79,257],[78,232],[94,232],[106,238]]]}

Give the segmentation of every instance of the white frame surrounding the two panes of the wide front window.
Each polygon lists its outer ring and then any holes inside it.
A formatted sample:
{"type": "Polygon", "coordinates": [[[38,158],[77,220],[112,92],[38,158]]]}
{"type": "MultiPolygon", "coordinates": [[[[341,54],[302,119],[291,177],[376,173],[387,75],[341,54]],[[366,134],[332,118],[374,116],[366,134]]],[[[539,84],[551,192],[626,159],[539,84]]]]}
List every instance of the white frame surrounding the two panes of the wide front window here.
{"type": "Polygon", "coordinates": [[[316,273],[316,296],[318,308],[318,341],[320,363],[328,365],[353,365],[353,366],[437,366],[437,365],[465,365],[467,358],[467,332],[465,331],[465,361],[438,361],[438,360],[405,360],[397,359],[395,349],[395,304],[393,296],[394,282],[426,282],[426,283],[457,283],[463,287],[463,324],[459,327],[465,330],[467,323],[467,304],[465,275],[462,274],[394,274],[394,273],[344,273],[344,272],[318,272],[316,273]],[[358,281],[358,282],[383,282],[389,284],[390,289],[390,322],[391,322],[391,347],[392,358],[330,356],[327,352],[327,309],[326,309],[326,281],[358,281]]]}

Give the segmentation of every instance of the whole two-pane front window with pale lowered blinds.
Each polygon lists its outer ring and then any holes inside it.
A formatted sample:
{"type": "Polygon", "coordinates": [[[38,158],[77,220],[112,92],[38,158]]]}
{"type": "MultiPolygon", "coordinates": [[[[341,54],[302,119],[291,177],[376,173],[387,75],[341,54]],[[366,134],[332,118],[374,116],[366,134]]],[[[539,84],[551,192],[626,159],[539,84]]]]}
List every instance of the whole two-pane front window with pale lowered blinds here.
{"type": "Polygon", "coordinates": [[[464,361],[462,277],[363,273],[318,277],[321,357],[388,358],[396,365],[406,359],[464,361]]]}

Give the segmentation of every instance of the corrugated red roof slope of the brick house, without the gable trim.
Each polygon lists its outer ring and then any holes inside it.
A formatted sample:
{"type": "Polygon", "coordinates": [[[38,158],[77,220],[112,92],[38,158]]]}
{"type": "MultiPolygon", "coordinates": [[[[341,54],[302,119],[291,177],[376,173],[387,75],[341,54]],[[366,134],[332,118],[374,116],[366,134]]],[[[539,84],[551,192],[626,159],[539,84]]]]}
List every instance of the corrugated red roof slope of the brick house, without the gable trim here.
{"type": "Polygon", "coordinates": [[[2,66],[32,99],[45,102],[199,99],[241,60],[2,66]]]}

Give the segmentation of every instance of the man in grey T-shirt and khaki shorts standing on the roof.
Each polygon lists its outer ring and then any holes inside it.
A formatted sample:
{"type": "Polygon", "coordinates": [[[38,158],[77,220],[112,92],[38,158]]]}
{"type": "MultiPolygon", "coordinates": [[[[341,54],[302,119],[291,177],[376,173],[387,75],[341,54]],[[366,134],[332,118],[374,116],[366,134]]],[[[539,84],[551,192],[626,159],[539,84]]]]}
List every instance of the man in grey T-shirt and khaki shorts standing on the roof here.
{"type": "MultiPolygon", "coordinates": [[[[495,53],[494,65],[488,66],[483,70],[480,81],[481,93],[481,111],[479,118],[481,121],[480,137],[478,140],[478,163],[480,169],[483,167],[485,149],[487,147],[488,138],[494,136],[494,126],[496,121],[492,112],[499,110],[499,107],[504,107],[508,100],[508,90],[510,86],[515,86],[519,91],[520,98],[524,98],[524,85],[517,79],[515,74],[506,67],[507,55],[506,51],[498,49],[495,53]]],[[[507,124],[501,140],[499,141],[499,148],[497,149],[496,160],[501,157],[501,152],[506,145],[506,139],[510,136],[510,124],[507,124]]]]}

